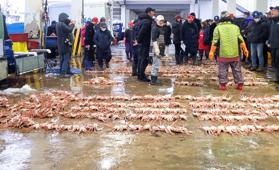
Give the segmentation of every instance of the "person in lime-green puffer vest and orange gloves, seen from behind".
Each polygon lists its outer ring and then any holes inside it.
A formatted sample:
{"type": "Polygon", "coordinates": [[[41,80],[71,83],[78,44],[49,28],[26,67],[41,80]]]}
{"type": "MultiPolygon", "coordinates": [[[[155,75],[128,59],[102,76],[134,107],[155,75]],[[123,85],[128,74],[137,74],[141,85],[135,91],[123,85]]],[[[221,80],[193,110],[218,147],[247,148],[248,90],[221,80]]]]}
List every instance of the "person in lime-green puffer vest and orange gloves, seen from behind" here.
{"type": "Polygon", "coordinates": [[[244,43],[240,30],[231,22],[231,15],[228,11],[223,11],[220,17],[220,23],[214,29],[213,41],[209,59],[213,59],[213,55],[217,56],[219,65],[219,84],[221,90],[226,90],[228,83],[228,68],[232,68],[232,75],[237,89],[242,90],[244,79],[241,74],[241,66],[239,64],[239,45],[242,47],[244,54],[248,57],[248,50],[244,43]]]}

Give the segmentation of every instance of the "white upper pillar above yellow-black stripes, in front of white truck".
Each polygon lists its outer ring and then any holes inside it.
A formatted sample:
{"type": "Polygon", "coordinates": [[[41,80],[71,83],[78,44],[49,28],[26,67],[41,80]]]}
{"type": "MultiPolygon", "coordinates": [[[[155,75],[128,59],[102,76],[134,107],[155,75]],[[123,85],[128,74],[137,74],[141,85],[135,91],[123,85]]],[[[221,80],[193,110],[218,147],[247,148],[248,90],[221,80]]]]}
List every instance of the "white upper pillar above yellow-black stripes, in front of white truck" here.
{"type": "MultiPolygon", "coordinates": [[[[70,12],[70,11],[69,11],[70,12]]],[[[72,21],[76,21],[75,27],[81,28],[82,27],[82,7],[81,7],[81,0],[72,0],[72,21]]]]}

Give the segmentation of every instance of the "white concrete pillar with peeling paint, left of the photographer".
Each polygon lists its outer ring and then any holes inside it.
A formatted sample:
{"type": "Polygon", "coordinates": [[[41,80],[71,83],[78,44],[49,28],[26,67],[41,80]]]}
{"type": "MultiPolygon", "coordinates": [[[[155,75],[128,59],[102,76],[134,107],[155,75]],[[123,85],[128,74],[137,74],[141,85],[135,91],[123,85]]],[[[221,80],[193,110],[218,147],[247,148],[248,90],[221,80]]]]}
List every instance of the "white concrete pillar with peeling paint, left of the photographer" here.
{"type": "Polygon", "coordinates": [[[43,0],[25,0],[24,31],[29,37],[38,37],[42,30],[43,0]]]}

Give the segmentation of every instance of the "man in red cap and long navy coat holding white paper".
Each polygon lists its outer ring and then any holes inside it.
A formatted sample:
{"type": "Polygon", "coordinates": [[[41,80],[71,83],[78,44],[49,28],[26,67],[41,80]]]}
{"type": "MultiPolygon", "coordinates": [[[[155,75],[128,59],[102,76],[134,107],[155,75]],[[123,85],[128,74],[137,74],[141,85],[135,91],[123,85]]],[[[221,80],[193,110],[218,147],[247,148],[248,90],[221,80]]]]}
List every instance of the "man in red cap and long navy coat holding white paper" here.
{"type": "Polygon", "coordinates": [[[194,16],[189,15],[187,21],[185,21],[180,30],[181,44],[185,44],[184,52],[184,65],[189,65],[188,54],[192,57],[193,65],[198,65],[196,63],[196,53],[198,51],[198,37],[199,30],[195,22],[193,22],[194,16]]]}

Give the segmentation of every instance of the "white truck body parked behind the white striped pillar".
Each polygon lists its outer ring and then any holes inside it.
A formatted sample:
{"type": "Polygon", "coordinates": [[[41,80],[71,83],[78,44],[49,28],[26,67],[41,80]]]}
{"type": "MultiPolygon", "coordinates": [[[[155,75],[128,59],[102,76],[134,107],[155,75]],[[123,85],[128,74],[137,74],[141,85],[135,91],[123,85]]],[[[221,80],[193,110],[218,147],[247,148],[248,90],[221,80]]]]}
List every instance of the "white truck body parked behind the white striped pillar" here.
{"type": "MultiPolygon", "coordinates": [[[[71,19],[71,1],[61,1],[61,2],[51,2],[49,3],[49,21],[57,21],[58,16],[62,12],[69,15],[69,19],[71,19]]],[[[83,23],[86,21],[91,21],[92,18],[97,17],[100,21],[101,17],[106,17],[107,28],[111,33],[112,31],[112,9],[113,9],[113,1],[112,0],[84,0],[83,2],[83,14],[84,19],[83,23]]]]}

